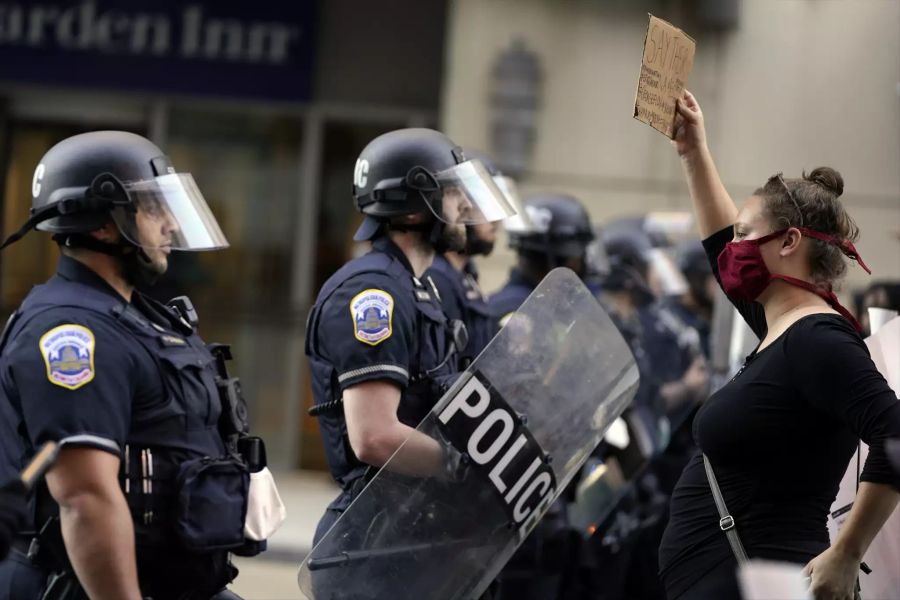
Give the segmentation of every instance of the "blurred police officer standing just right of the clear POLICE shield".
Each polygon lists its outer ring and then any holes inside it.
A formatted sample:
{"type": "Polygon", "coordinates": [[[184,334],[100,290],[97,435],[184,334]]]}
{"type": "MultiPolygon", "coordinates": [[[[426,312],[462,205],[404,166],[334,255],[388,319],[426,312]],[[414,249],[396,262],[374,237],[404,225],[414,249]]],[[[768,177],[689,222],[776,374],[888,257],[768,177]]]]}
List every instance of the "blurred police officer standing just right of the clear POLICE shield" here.
{"type": "Polygon", "coordinates": [[[665,279],[661,274],[671,274],[665,257],[649,236],[618,225],[603,231],[609,271],[599,300],[635,356],[641,381],[629,418],[639,419],[650,433],[653,455],[634,474],[617,506],[619,522],[632,524],[616,544],[592,539],[598,564],[594,577],[598,587],[605,586],[606,597],[649,600],[664,595],[653,549],[667,522],[668,495],[692,448],[689,430],[677,428],[703,398],[709,376],[696,330],[654,293],[685,286],[660,285],[665,279]]]}

